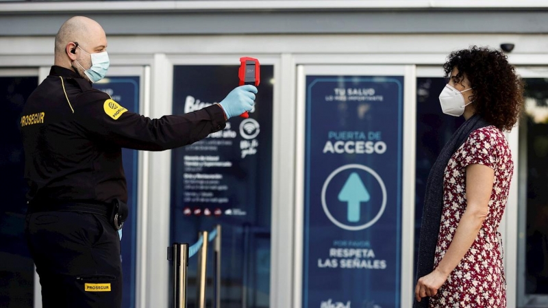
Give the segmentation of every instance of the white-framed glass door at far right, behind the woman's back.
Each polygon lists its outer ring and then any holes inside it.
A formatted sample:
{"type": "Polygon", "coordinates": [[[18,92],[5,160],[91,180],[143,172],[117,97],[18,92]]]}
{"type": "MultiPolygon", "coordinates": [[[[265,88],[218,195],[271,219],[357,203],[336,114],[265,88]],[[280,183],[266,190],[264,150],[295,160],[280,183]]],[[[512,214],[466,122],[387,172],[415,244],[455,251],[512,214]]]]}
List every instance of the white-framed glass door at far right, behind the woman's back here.
{"type": "Polygon", "coordinates": [[[519,68],[518,307],[548,307],[548,68],[519,68]]]}

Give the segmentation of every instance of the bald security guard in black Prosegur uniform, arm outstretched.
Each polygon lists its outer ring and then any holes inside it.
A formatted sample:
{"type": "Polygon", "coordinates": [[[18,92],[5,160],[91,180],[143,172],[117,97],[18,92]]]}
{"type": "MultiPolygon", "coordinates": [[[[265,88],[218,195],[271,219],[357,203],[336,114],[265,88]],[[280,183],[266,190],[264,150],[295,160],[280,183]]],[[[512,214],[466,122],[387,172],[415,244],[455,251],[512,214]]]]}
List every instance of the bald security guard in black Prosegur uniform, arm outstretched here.
{"type": "Polygon", "coordinates": [[[25,236],[42,306],[121,307],[119,229],[127,218],[122,148],[163,151],[191,144],[253,107],[257,89],[184,115],[150,119],[92,88],[110,64],[99,23],[75,16],[55,36],[55,65],[23,109],[29,184],[25,236]]]}

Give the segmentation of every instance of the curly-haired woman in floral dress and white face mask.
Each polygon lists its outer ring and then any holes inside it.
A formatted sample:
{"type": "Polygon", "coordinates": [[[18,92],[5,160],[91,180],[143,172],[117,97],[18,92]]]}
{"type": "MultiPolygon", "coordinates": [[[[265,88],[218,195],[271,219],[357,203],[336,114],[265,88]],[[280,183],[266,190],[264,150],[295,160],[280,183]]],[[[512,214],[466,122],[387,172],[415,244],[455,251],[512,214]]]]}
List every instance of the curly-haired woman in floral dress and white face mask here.
{"type": "Polygon", "coordinates": [[[497,229],[514,163],[503,131],[521,114],[523,86],[496,50],[455,51],[443,68],[441,108],[466,122],[428,177],[414,307],[506,307],[497,229]]]}

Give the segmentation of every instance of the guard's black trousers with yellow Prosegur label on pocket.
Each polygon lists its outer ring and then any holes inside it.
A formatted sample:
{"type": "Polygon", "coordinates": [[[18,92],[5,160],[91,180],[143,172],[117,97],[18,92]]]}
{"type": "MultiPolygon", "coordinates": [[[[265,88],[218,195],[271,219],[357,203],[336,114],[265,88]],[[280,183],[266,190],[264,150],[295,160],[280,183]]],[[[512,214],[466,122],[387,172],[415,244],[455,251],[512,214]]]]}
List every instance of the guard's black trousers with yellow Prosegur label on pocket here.
{"type": "Polygon", "coordinates": [[[73,211],[27,214],[25,237],[44,308],[120,308],[118,232],[108,218],[73,211]]]}

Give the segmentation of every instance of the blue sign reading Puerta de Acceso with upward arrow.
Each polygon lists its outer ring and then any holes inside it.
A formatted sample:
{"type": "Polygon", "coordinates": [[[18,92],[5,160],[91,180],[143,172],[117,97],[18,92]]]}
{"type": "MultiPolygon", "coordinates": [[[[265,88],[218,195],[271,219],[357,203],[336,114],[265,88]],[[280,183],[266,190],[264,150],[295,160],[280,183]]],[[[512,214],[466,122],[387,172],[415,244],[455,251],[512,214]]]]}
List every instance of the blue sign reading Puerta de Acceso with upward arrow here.
{"type": "Polygon", "coordinates": [[[306,87],[303,307],[399,307],[403,77],[306,87]]]}

